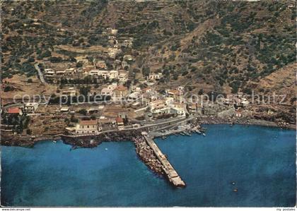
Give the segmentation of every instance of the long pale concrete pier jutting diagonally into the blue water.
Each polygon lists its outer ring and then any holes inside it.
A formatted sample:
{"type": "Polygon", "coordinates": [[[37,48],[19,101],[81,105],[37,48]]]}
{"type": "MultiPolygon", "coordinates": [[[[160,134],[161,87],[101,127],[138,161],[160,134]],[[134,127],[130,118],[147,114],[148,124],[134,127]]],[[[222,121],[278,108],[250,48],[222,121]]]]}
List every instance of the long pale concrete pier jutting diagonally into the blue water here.
{"type": "Polygon", "coordinates": [[[163,165],[163,171],[165,175],[168,177],[170,183],[173,183],[173,186],[175,187],[185,187],[185,182],[182,181],[180,176],[177,174],[177,171],[175,171],[168,159],[165,157],[165,155],[163,155],[159,147],[153,141],[153,138],[151,138],[151,136],[149,135],[144,135],[144,138],[146,139],[146,143],[148,143],[148,145],[155,153],[156,157],[158,157],[161,164],[163,165]]]}

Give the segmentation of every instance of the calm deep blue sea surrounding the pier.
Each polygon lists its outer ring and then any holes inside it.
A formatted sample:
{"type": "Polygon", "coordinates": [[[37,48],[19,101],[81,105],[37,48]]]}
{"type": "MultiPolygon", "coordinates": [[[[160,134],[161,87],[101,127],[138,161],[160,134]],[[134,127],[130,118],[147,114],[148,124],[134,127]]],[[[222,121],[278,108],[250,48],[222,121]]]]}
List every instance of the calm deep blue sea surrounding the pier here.
{"type": "Polygon", "coordinates": [[[187,183],[184,189],[173,188],[149,171],[129,142],[72,151],[62,142],[2,147],[1,204],[295,205],[295,131],[260,126],[206,128],[206,137],[173,135],[156,140],[187,183]]]}

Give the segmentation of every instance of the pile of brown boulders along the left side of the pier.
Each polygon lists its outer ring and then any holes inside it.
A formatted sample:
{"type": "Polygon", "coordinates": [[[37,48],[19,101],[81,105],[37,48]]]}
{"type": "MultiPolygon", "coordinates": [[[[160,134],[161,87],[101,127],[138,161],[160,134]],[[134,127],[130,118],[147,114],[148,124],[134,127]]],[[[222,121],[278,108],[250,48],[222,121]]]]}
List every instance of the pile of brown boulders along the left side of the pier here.
{"type": "Polygon", "coordinates": [[[135,145],[135,152],[139,158],[150,168],[153,172],[158,175],[163,175],[162,164],[154,155],[151,147],[148,146],[143,136],[137,136],[133,138],[135,145]]]}

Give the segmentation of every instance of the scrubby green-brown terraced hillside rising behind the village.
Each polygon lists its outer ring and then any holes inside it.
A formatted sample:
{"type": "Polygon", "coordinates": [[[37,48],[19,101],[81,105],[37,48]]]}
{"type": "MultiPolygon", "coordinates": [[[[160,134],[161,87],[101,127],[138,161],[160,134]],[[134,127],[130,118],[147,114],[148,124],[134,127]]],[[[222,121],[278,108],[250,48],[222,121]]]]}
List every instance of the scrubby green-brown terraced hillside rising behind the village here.
{"type": "MultiPolygon", "coordinates": [[[[3,78],[33,76],[59,45],[103,46],[106,28],[134,38],[132,70],[163,73],[159,88],[250,93],[253,84],[295,65],[294,1],[3,1],[3,78]]],[[[124,52],[125,53],[125,52],[124,52]]],[[[293,68],[289,68],[293,71],[293,68]]],[[[290,80],[294,74],[286,75],[290,80]]],[[[272,80],[272,89],[279,83],[272,80]]],[[[258,89],[264,92],[263,89],[258,89]]],[[[293,95],[290,95],[288,102],[293,95]]]]}

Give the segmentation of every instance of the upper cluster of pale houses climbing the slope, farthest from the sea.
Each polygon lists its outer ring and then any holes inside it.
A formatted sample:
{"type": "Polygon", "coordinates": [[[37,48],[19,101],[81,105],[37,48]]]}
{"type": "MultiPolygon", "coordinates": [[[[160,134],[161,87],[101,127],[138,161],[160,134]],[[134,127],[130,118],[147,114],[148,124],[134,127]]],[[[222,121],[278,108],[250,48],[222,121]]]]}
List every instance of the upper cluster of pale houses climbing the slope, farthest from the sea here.
{"type": "Polygon", "coordinates": [[[103,56],[112,65],[108,66],[103,59],[79,59],[78,63],[82,66],[79,68],[45,68],[44,76],[48,82],[57,83],[61,78],[75,79],[91,76],[92,78],[104,78],[105,80],[117,80],[119,83],[125,83],[128,79],[127,70],[130,67],[134,57],[132,55],[124,55],[121,60],[116,59],[117,55],[122,52],[122,47],[130,48],[133,44],[133,39],[128,38],[122,40],[121,44],[117,40],[117,30],[114,28],[107,28],[103,34],[108,35],[109,47],[103,50],[103,56]]]}

